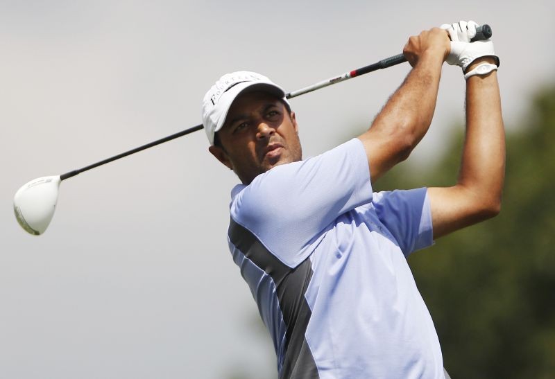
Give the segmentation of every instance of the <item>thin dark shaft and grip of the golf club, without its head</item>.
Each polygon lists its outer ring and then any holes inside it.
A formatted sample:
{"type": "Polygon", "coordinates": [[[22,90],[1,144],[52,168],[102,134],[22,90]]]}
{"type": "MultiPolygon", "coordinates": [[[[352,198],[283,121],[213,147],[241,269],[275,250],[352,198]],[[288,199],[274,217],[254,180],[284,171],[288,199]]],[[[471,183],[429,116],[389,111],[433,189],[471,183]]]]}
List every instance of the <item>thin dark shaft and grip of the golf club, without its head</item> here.
{"type": "MultiPolygon", "coordinates": [[[[478,39],[488,39],[492,35],[492,31],[491,31],[490,26],[488,26],[486,24],[484,24],[482,26],[478,26],[476,28],[476,30],[477,30],[476,36],[472,39],[472,41],[476,41],[478,39]]],[[[310,85],[308,87],[298,89],[297,91],[289,92],[288,94],[285,95],[285,97],[288,98],[288,99],[289,98],[294,98],[294,97],[300,96],[302,94],[307,94],[311,91],[316,91],[316,89],[321,89],[321,88],[327,87],[329,85],[334,85],[334,84],[339,83],[339,82],[344,82],[345,80],[349,80],[351,78],[356,78],[357,76],[364,75],[365,73],[370,73],[372,71],[376,71],[376,70],[380,70],[380,69],[386,69],[387,67],[395,66],[396,64],[400,64],[400,63],[403,63],[403,62],[407,62],[407,59],[404,58],[404,55],[402,55],[402,54],[393,55],[392,57],[380,60],[379,62],[376,62],[374,64],[369,64],[368,66],[364,66],[364,67],[361,67],[359,69],[355,69],[355,70],[351,70],[351,71],[348,71],[346,73],[343,73],[340,76],[334,76],[333,78],[323,80],[323,81],[318,82],[314,85],[310,85]]],[[[68,179],[69,177],[74,177],[75,175],[78,175],[78,174],[83,173],[85,171],[91,170],[92,168],[102,166],[103,164],[108,164],[112,161],[116,161],[117,159],[121,159],[123,157],[127,157],[128,155],[135,154],[135,152],[139,152],[139,151],[142,151],[142,150],[146,150],[148,148],[152,148],[153,146],[160,145],[160,143],[171,141],[172,139],[179,138],[180,136],[185,136],[187,134],[190,134],[192,132],[196,132],[197,130],[201,130],[201,129],[203,129],[202,124],[196,125],[194,127],[189,127],[189,129],[182,130],[181,132],[178,132],[176,134],[171,134],[170,136],[164,137],[162,139],[157,139],[156,141],[153,141],[151,143],[147,143],[146,145],[143,145],[143,146],[139,146],[138,148],[134,148],[132,150],[122,152],[121,154],[114,155],[114,157],[104,159],[103,161],[96,162],[95,164],[91,164],[89,166],[79,168],[78,170],[69,171],[69,173],[65,173],[65,174],[60,175],[60,179],[65,180],[65,179],[68,179]]]]}

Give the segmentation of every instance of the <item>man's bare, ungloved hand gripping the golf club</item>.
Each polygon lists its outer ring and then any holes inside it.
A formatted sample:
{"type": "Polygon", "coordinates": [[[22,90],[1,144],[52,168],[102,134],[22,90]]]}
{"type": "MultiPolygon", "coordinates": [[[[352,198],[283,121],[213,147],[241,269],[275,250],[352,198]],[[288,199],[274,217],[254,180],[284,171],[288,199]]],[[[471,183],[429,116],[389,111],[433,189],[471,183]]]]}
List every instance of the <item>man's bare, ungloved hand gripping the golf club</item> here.
{"type": "Polygon", "coordinates": [[[440,55],[443,62],[450,51],[449,44],[449,37],[445,30],[432,28],[422,31],[419,35],[411,36],[409,42],[404,45],[403,54],[412,67],[416,66],[425,53],[440,55]]]}

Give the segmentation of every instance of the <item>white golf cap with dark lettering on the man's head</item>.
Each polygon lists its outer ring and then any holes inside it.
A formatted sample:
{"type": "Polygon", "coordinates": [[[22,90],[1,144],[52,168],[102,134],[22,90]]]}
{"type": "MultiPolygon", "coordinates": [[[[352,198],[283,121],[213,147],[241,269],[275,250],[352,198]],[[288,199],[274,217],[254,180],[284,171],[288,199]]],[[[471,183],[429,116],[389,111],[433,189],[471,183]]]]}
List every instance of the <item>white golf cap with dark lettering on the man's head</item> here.
{"type": "Polygon", "coordinates": [[[246,89],[269,92],[289,104],[285,91],[264,75],[250,71],[226,73],[203,98],[203,125],[210,145],[214,145],[214,134],[223,127],[233,100],[246,89]]]}

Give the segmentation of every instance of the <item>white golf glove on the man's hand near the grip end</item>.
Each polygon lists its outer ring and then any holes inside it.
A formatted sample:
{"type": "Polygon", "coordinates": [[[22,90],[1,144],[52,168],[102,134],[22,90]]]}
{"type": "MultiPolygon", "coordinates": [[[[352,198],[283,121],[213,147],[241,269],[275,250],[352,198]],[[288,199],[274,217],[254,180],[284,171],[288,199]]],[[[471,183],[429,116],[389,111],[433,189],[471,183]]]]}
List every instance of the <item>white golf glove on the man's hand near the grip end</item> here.
{"type": "Polygon", "coordinates": [[[493,57],[499,66],[499,57],[493,51],[491,38],[470,42],[476,35],[476,24],[474,21],[459,21],[454,24],[443,24],[440,28],[447,30],[451,38],[451,51],[447,56],[447,63],[463,68],[480,57],[493,57]]]}

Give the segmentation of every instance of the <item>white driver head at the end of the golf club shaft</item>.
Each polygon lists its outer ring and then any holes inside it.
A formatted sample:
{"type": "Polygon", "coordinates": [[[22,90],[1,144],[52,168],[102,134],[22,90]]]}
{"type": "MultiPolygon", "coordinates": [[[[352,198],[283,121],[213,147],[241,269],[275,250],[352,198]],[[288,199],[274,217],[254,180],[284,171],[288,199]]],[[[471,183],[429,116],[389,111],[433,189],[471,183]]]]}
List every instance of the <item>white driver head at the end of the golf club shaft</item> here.
{"type": "Polygon", "coordinates": [[[19,188],[13,197],[15,218],[35,236],[44,233],[56,209],[60,176],[40,177],[19,188]]]}

